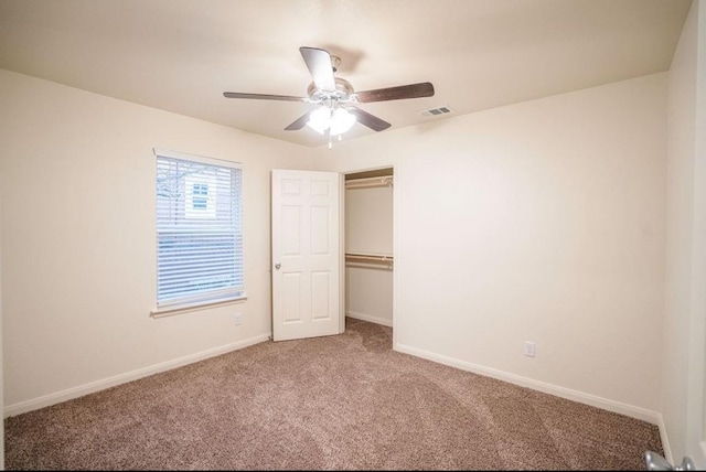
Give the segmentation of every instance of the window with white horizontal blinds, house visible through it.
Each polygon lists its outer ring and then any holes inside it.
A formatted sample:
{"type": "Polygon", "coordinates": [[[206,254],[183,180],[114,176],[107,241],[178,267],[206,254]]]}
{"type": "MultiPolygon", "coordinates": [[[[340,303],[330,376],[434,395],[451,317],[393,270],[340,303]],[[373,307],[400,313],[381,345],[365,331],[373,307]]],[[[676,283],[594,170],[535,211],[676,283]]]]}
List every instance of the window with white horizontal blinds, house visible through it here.
{"type": "Polygon", "coordinates": [[[154,154],[157,311],[245,298],[239,164],[154,154]]]}

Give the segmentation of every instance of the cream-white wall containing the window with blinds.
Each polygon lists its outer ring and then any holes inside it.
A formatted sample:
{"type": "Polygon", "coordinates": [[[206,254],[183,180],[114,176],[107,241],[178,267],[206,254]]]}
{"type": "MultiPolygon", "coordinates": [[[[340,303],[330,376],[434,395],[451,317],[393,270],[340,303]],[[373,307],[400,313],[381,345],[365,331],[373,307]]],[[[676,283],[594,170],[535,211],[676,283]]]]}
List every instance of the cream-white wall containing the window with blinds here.
{"type": "Polygon", "coordinates": [[[6,414],[267,339],[269,172],[310,149],[8,71],[0,89],[6,414]],[[153,147],[243,163],[246,302],[150,318],[153,147]]]}

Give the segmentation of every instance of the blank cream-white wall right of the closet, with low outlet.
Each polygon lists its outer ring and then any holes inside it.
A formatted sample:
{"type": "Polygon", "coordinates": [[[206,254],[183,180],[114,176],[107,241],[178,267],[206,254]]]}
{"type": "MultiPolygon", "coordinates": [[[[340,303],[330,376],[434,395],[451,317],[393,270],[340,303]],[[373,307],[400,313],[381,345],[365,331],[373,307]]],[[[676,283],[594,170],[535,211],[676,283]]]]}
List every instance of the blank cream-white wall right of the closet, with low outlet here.
{"type": "Polygon", "coordinates": [[[395,168],[395,347],[656,421],[666,79],[317,148],[395,168]]]}

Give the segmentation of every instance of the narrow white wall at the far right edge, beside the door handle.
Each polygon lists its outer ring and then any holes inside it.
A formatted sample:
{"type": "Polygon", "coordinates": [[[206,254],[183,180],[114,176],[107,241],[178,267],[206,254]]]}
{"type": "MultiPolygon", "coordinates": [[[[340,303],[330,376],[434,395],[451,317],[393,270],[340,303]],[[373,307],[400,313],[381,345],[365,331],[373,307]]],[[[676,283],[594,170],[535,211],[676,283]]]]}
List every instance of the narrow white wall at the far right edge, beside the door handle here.
{"type": "MultiPolygon", "coordinates": [[[[666,297],[662,412],[672,460],[706,468],[706,8],[693,2],[668,81],[666,297]],[[698,104],[698,106],[697,106],[698,104]]],[[[670,451],[665,451],[670,452],[670,451]]]]}

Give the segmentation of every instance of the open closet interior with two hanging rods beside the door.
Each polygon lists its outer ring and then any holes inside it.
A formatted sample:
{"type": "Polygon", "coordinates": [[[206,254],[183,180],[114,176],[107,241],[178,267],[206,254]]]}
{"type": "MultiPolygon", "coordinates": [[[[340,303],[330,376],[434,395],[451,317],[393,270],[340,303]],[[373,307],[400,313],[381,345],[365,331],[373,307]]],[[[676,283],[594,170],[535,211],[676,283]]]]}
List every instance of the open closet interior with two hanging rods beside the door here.
{"type": "Polygon", "coordinates": [[[345,317],[393,326],[393,168],[345,174],[345,317]]]}

